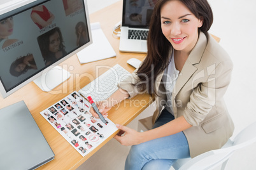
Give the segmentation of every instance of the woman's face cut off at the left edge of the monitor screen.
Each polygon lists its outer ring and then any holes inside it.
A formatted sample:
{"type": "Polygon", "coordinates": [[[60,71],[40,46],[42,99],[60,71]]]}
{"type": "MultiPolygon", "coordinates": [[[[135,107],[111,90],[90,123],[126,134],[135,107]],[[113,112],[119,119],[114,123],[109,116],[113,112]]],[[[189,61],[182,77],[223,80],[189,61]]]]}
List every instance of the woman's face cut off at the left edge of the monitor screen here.
{"type": "Polygon", "coordinates": [[[13,34],[13,18],[7,18],[0,22],[0,38],[6,39],[8,36],[13,34]]]}

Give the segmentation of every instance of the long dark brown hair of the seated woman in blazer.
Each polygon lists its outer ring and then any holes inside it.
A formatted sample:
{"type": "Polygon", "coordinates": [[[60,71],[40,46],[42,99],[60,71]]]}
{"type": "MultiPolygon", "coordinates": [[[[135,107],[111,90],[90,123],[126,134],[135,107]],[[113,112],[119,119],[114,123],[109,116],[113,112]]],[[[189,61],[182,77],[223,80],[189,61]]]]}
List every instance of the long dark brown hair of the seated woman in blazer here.
{"type": "MultiPolygon", "coordinates": [[[[172,0],[167,0],[172,1],[172,0]]],[[[157,75],[159,75],[169,64],[170,51],[173,49],[171,43],[162,34],[160,10],[167,2],[166,0],[159,0],[155,4],[155,8],[150,20],[150,30],[148,32],[147,47],[148,53],[145,60],[137,71],[137,75],[141,82],[136,86],[141,91],[147,91],[150,94],[156,94],[153,84],[157,75]]],[[[206,33],[213,23],[213,12],[207,0],[179,0],[185,4],[187,8],[198,18],[203,20],[202,27],[199,28],[206,33]]]]}

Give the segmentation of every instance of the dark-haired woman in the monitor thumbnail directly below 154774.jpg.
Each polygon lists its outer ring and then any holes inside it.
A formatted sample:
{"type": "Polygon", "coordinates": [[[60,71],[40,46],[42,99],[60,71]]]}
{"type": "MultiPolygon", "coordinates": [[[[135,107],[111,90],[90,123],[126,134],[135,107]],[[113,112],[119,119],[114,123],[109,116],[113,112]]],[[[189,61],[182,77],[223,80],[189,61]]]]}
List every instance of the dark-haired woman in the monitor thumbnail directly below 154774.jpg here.
{"type": "Polygon", "coordinates": [[[50,65],[67,55],[59,27],[55,27],[42,36],[39,36],[38,44],[45,61],[45,65],[50,65]]]}

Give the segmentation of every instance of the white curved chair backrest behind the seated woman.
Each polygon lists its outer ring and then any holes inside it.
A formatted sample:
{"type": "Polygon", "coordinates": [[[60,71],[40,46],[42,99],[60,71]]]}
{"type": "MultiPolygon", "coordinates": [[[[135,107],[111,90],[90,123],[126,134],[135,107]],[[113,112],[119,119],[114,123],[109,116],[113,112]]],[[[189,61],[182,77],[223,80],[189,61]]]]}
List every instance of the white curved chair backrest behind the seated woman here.
{"type": "Polygon", "coordinates": [[[180,170],[189,169],[214,169],[229,159],[235,150],[246,147],[256,142],[256,121],[243,129],[232,142],[231,147],[211,150],[204,154],[194,157],[180,167],[180,170]]]}

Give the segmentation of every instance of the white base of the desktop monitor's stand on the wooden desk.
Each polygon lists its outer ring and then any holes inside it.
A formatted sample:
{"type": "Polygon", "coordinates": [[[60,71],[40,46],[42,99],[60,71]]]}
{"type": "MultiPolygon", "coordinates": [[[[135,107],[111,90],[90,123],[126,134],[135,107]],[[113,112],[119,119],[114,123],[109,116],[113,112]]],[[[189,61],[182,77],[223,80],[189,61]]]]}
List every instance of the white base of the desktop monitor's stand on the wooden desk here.
{"type": "Polygon", "coordinates": [[[51,91],[59,84],[66,81],[69,77],[70,73],[57,65],[48,72],[43,73],[40,77],[35,79],[34,83],[42,91],[51,91]]]}

